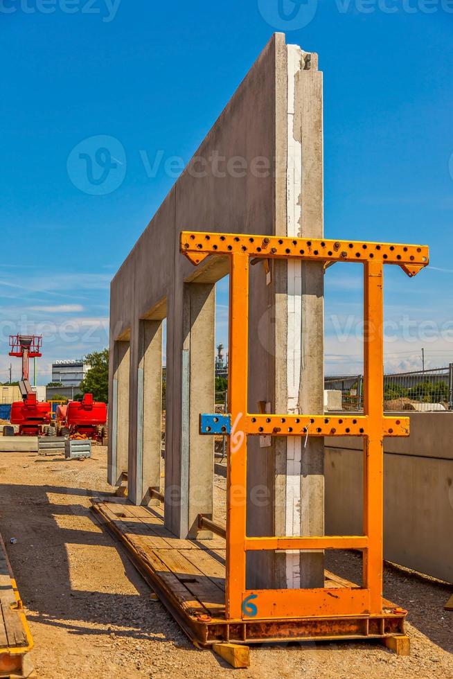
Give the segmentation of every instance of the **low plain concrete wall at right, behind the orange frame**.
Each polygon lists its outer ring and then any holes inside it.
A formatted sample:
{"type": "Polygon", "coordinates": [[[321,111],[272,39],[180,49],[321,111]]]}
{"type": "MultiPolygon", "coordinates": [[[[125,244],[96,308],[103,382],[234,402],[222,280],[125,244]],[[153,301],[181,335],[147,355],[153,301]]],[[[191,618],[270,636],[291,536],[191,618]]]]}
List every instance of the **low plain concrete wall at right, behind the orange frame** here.
{"type": "MultiPolygon", "coordinates": [[[[384,439],[384,558],[453,583],[453,413],[409,416],[409,439],[384,439]]],[[[393,415],[393,413],[392,413],[393,415]]],[[[326,533],[361,535],[363,455],[326,439],[326,533]]]]}

